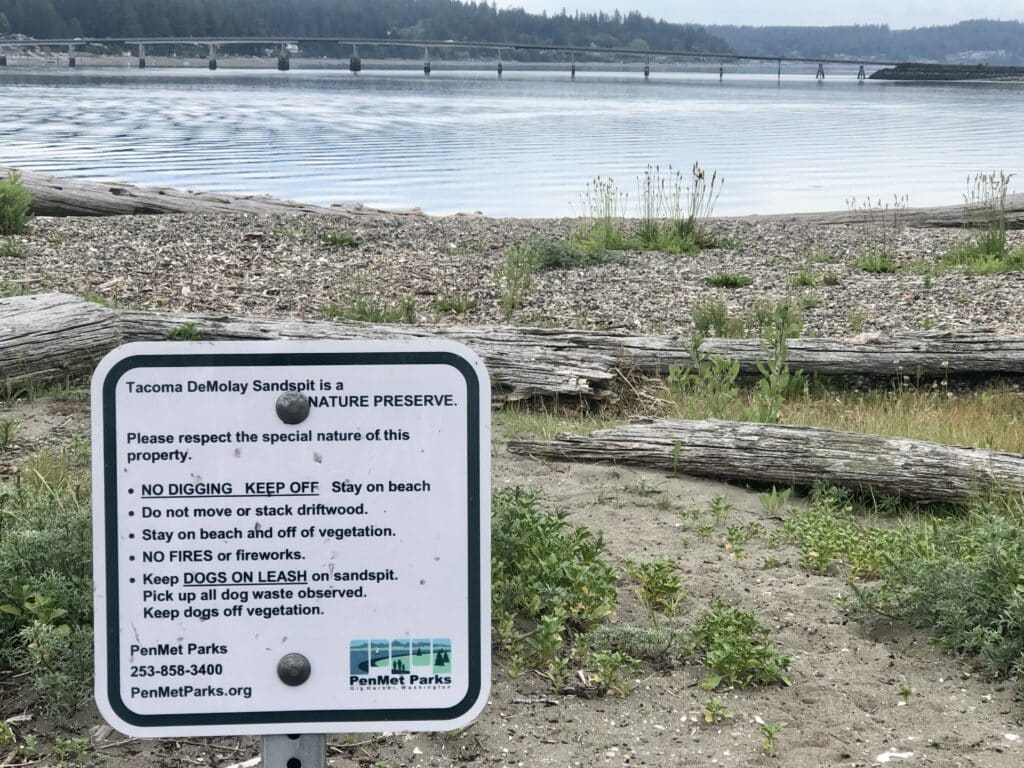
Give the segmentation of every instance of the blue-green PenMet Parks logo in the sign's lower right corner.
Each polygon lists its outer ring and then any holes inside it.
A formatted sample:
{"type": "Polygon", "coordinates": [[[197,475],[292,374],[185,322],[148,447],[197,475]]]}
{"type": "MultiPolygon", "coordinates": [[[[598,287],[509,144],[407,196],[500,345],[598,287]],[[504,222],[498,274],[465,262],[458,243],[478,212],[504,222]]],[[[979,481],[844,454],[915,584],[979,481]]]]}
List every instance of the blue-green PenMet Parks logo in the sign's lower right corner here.
{"type": "Polygon", "coordinates": [[[449,688],[452,641],[446,637],[351,640],[348,685],[353,690],[449,688]]]}

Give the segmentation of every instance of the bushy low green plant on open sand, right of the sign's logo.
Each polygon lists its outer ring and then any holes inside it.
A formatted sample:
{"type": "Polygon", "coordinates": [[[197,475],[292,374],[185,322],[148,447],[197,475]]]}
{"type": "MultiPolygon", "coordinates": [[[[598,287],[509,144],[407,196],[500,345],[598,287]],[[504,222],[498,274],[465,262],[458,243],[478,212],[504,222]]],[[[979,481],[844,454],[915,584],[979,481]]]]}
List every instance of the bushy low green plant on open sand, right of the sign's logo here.
{"type": "Polygon", "coordinates": [[[693,629],[702,663],[710,674],[701,682],[705,690],[720,685],[790,685],[785,676],[790,656],[777,651],[768,630],[753,613],[726,606],[721,600],[697,616],[693,629]]]}

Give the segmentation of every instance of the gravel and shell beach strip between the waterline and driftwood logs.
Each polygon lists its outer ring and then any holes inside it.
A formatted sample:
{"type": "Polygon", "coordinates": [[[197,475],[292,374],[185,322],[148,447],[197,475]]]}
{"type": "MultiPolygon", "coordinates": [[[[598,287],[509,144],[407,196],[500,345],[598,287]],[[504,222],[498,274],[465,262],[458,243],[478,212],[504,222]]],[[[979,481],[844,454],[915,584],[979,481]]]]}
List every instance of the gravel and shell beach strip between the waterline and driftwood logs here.
{"type": "MultiPolygon", "coordinates": [[[[419,323],[505,323],[497,272],[509,249],[580,226],[578,219],[386,214],[40,218],[14,239],[20,254],[0,251],[0,282],[7,292],[58,290],[132,308],[306,319],[322,317],[331,302],[409,297],[419,323]],[[358,244],[323,242],[342,231],[358,244]],[[456,296],[472,299],[472,307],[458,315],[439,310],[438,299],[456,296]]],[[[890,273],[854,264],[879,237],[866,226],[717,219],[711,229],[730,247],[694,256],[625,251],[611,263],[539,271],[511,322],[688,335],[701,302],[719,298],[741,315],[759,302],[788,299],[802,307],[806,335],[1024,332],[1024,272],[926,275],[969,240],[961,229],[903,229],[890,273]],[[796,285],[801,270],[814,285],[796,285]],[[710,287],[706,279],[719,272],[752,283],[710,287]]],[[[1009,238],[1024,244],[1024,232],[1009,238]]]]}

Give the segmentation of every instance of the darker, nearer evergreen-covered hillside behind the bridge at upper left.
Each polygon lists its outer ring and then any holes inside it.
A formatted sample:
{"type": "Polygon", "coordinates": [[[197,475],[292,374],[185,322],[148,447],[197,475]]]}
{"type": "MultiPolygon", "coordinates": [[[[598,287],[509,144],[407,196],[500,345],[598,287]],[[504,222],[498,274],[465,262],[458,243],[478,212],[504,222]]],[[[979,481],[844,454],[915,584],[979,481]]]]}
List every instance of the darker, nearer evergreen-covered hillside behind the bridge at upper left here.
{"type": "Polygon", "coordinates": [[[540,15],[457,0],[0,0],[0,34],[288,35],[725,51],[695,25],[633,12],[540,15]]]}

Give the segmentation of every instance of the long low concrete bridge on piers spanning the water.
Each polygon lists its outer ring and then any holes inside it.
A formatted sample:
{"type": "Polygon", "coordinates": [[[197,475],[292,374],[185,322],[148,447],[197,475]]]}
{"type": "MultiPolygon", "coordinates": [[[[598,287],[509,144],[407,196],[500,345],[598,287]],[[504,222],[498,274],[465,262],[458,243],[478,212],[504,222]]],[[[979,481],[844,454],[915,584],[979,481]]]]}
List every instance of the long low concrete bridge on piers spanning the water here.
{"type": "MultiPolygon", "coordinates": [[[[292,51],[301,49],[306,45],[339,45],[350,46],[348,69],[353,73],[362,70],[362,59],[359,56],[359,46],[368,47],[402,47],[402,48],[423,48],[423,72],[430,74],[430,51],[431,49],[469,49],[475,51],[492,51],[495,54],[495,61],[499,76],[504,69],[502,60],[503,51],[529,51],[560,53],[570,57],[569,73],[575,77],[577,56],[593,57],[600,55],[613,55],[624,58],[635,58],[643,63],[643,74],[647,78],[650,76],[651,58],[679,59],[690,61],[718,61],[720,65],[731,61],[768,61],[778,63],[779,76],[782,74],[783,62],[811,63],[817,65],[817,77],[824,78],[824,65],[859,65],[857,73],[858,79],[863,79],[864,66],[873,67],[895,67],[901,61],[884,61],[873,58],[809,58],[801,56],[768,56],[760,54],[745,53],[721,53],[714,51],[678,51],[678,50],[638,50],[635,48],[601,48],[591,46],[571,45],[547,45],[536,43],[493,43],[479,41],[457,41],[457,40],[399,40],[393,38],[344,38],[344,37],[126,37],[126,38],[72,38],[72,39],[49,39],[49,40],[3,40],[0,39],[0,67],[7,66],[6,50],[26,48],[66,48],[68,52],[68,66],[76,67],[78,63],[78,51],[89,45],[121,46],[135,48],[138,54],[138,67],[145,68],[146,46],[190,46],[206,49],[206,58],[210,70],[217,69],[217,52],[220,49],[231,46],[253,46],[262,45],[269,49],[278,50],[278,69],[288,71],[291,69],[292,51]]],[[[719,67],[719,74],[722,74],[722,67],[719,67]]]]}

